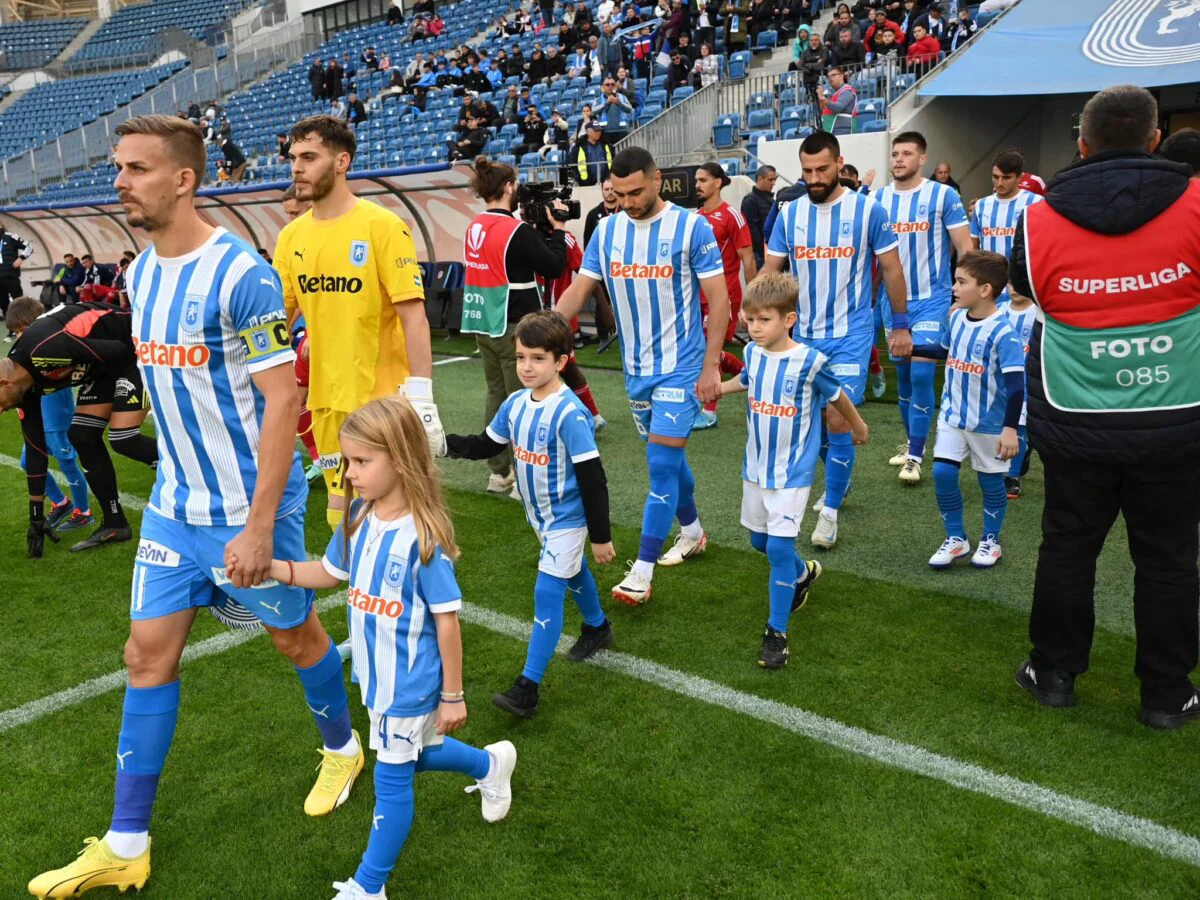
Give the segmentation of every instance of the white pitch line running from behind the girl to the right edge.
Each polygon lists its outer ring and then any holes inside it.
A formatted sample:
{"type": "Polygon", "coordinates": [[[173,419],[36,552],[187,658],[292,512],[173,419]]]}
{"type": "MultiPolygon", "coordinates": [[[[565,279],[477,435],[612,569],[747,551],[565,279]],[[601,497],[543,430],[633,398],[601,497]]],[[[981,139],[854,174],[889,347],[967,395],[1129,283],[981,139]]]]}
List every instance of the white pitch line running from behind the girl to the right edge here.
{"type": "MultiPolygon", "coordinates": [[[[481,625],[509,637],[528,640],[529,625],[504,613],[474,604],[463,604],[463,622],[481,625]]],[[[563,637],[558,653],[571,641],[563,637]]],[[[972,793],[984,794],[1069,824],[1086,828],[1102,838],[1114,838],[1170,859],[1200,866],[1200,839],[1140,816],[1058,793],[1042,785],[935,754],[913,744],[874,734],[804,709],[728,688],[707,678],[679,672],[640,656],[606,650],[589,660],[600,668],[636,678],[684,697],[778,725],[829,746],[881,762],[896,769],[942,781],[972,793]]]]}

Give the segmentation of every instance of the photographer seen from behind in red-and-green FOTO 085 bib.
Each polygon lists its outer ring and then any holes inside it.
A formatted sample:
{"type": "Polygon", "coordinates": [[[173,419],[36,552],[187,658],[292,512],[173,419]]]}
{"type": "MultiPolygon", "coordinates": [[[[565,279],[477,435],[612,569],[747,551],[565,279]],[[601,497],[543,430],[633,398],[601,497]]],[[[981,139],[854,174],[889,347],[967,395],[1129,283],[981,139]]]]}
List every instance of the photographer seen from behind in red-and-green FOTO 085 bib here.
{"type": "Polygon", "coordinates": [[[1033,650],[1018,684],[1075,703],[1096,624],[1096,559],[1124,516],[1144,725],[1200,719],[1200,181],[1152,156],[1153,96],[1132,85],[1084,107],[1080,161],[1025,210],[1010,277],[1038,304],[1030,444],[1045,464],[1033,650]]]}

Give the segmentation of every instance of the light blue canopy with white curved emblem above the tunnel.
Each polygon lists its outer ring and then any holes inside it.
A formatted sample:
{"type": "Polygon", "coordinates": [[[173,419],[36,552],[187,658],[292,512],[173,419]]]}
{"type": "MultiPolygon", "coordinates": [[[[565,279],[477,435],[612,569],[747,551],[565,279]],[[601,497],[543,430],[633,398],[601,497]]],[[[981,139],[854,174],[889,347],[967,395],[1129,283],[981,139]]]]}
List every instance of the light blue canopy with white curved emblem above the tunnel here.
{"type": "Polygon", "coordinates": [[[1024,0],[922,85],[930,97],[1200,82],[1200,0],[1024,0]]]}

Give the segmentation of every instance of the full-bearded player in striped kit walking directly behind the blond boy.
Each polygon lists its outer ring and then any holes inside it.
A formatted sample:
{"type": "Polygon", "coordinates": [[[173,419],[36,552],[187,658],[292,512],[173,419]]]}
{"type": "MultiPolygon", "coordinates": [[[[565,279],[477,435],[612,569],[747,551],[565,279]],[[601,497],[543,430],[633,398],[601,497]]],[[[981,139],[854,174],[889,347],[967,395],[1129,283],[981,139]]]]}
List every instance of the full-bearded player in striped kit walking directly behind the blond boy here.
{"type": "MultiPolygon", "coordinates": [[[[888,348],[893,356],[908,358],[912,335],[907,288],[888,214],[866,194],[839,184],[840,154],[838,138],[824,131],[800,144],[808,193],[776,216],[763,271],[778,272],[785,260],[791,262],[800,286],[799,320],[792,336],[829,359],[828,371],[841,380],[857,406],[866,391],[874,342],[872,259],[878,260],[892,305],[888,348]]],[[[829,436],[826,490],[817,500],[820,516],[811,540],[828,548],[838,542],[838,510],[850,486],[856,454],[846,416],[826,407],[824,425],[829,436]]]]}

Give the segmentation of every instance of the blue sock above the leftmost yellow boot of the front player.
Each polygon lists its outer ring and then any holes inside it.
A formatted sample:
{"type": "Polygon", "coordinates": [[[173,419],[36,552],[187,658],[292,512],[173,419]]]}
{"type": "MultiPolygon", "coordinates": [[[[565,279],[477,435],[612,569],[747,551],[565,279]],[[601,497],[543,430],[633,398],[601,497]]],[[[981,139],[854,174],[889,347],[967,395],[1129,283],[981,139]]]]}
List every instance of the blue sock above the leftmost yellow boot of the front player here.
{"type": "Polygon", "coordinates": [[[126,688],[116,739],[114,832],[149,832],[158,775],[175,736],[179,679],[157,688],[126,688]]]}

